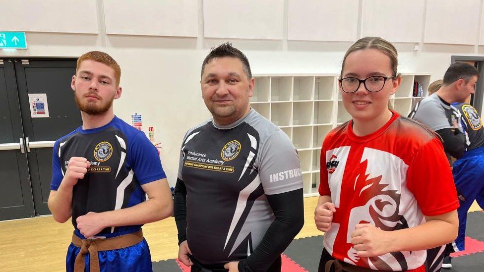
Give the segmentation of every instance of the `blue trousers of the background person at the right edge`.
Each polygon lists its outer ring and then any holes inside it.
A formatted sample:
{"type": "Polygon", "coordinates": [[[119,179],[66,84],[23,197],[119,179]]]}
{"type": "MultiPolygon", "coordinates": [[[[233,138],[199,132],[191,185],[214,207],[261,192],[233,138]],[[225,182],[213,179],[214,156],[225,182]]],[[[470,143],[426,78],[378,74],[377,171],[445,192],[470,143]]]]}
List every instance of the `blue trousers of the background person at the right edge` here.
{"type": "Polygon", "coordinates": [[[474,200],[484,208],[484,147],[464,153],[452,169],[455,187],[459,196],[459,234],[455,245],[459,251],[465,249],[467,212],[474,200]]]}

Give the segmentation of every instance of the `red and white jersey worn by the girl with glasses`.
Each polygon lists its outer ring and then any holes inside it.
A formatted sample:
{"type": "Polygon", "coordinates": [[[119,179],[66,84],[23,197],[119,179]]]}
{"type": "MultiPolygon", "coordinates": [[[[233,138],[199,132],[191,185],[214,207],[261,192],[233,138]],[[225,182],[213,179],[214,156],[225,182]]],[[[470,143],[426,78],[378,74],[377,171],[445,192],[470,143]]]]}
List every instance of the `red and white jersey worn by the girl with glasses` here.
{"type": "MultiPolygon", "coordinates": [[[[452,172],[440,140],[394,112],[380,129],[358,137],[352,121],[333,129],[321,151],[320,195],[331,195],[336,213],[324,247],[336,259],[386,271],[420,271],[426,253],[393,252],[360,258],[351,244],[355,225],[410,228],[459,207],[452,172]]],[[[423,270],[424,271],[424,270],[423,270]]]]}

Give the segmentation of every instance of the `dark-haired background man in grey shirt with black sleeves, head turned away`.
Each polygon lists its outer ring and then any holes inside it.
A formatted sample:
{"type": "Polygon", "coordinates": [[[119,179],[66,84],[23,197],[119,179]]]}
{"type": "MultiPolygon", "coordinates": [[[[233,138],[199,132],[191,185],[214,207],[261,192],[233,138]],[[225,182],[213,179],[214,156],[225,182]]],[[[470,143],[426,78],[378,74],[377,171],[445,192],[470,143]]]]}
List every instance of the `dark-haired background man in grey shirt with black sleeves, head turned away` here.
{"type": "MultiPolygon", "coordinates": [[[[410,118],[423,123],[440,135],[444,150],[449,157],[449,162],[450,157],[456,159],[463,157],[467,147],[466,134],[463,133],[464,129],[462,127],[462,118],[464,118],[464,116],[462,116],[459,109],[452,106],[452,104],[463,103],[474,93],[478,76],[479,72],[477,69],[468,63],[456,62],[451,64],[444,74],[442,87],[440,87],[437,92],[417,104],[415,109],[409,115],[410,118]]],[[[477,121],[480,123],[479,117],[477,117],[477,121]]],[[[464,171],[462,171],[462,168],[463,167],[459,167],[458,172],[472,170],[464,169],[464,171]]],[[[460,180],[462,179],[463,174],[457,173],[456,169],[453,169],[453,175],[454,182],[457,185],[457,192],[461,196],[463,192],[467,191],[469,182],[461,182],[460,180]],[[464,186],[459,186],[458,184],[464,184],[464,186]]],[[[459,197],[459,199],[461,205],[458,209],[459,225],[460,229],[464,229],[465,233],[465,224],[462,227],[462,220],[465,220],[468,208],[466,209],[465,206],[463,206],[463,199],[461,197],[459,197]],[[465,212],[463,213],[462,210],[465,210],[465,212]]],[[[453,243],[453,246],[449,244],[443,255],[441,255],[442,250],[440,248],[428,250],[427,263],[430,265],[429,271],[439,271],[442,259],[442,268],[451,268],[452,265],[450,263],[449,254],[454,250],[457,250],[455,243],[453,243]]]]}

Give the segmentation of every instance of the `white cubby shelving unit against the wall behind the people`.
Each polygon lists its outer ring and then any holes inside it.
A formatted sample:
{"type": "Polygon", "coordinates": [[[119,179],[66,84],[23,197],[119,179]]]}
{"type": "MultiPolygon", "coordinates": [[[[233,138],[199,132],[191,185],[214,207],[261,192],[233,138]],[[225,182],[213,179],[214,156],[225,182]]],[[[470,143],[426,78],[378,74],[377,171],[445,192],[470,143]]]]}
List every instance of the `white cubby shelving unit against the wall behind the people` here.
{"type": "MultiPolygon", "coordinates": [[[[338,74],[254,75],[250,106],[280,127],[298,149],[304,197],[319,195],[324,137],[351,118],[341,101],[338,77],[338,74]]],[[[403,116],[423,98],[412,96],[414,81],[422,85],[426,96],[430,74],[402,74],[402,84],[390,99],[394,109],[403,116]]]]}

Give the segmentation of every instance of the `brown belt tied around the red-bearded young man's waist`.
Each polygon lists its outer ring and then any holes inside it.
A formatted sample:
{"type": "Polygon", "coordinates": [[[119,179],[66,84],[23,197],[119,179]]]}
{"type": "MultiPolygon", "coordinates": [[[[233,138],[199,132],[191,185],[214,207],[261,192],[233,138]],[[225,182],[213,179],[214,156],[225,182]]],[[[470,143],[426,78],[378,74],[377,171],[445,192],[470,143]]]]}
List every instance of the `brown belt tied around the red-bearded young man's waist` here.
{"type": "Polygon", "coordinates": [[[72,235],[72,243],[81,250],[74,262],[74,272],[84,272],[84,256],[89,252],[91,272],[100,272],[98,251],[115,250],[130,247],[143,241],[143,230],[106,239],[80,239],[72,235]]]}

